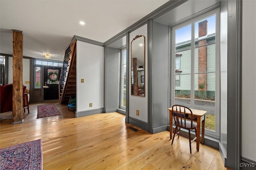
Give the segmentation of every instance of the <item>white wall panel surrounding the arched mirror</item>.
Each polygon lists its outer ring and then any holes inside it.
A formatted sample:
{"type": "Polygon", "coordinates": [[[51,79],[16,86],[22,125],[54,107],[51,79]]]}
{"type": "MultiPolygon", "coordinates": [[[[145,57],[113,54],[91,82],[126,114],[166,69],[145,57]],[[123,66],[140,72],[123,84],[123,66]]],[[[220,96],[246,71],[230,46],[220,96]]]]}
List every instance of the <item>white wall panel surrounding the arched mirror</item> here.
{"type": "MultiPolygon", "coordinates": [[[[147,48],[147,41],[148,41],[148,26],[147,24],[138,28],[137,30],[130,33],[130,44],[132,39],[135,38],[137,35],[145,36],[145,67],[144,67],[144,86],[145,86],[145,97],[133,96],[131,93],[129,94],[129,116],[140,121],[148,122],[148,48],[147,48]],[[140,111],[140,115],[136,115],[136,110],[140,111]]],[[[131,52],[130,52],[131,54],[131,52]]],[[[130,65],[131,65],[131,56],[130,56],[130,65]]],[[[131,72],[131,69],[130,69],[131,72]]],[[[130,76],[131,78],[131,76],[130,76]]],[[[129,83],[131,82],[131,79],[129,83]]],[[[130,86],[131,92],[131,86],[130,86]]]]}

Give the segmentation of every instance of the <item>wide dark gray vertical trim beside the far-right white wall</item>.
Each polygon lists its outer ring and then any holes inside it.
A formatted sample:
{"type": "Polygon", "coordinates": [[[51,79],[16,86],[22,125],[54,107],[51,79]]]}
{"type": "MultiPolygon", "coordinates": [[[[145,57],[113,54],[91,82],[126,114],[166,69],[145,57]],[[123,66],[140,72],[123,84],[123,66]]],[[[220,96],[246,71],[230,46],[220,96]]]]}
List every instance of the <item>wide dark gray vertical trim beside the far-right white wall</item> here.
{"type": "Polygon", "coordinates": [[[227,161],[228,168],[240,169],[241,161],[241,4],[228,0],[228,69],[227,69],[227,161]]]}

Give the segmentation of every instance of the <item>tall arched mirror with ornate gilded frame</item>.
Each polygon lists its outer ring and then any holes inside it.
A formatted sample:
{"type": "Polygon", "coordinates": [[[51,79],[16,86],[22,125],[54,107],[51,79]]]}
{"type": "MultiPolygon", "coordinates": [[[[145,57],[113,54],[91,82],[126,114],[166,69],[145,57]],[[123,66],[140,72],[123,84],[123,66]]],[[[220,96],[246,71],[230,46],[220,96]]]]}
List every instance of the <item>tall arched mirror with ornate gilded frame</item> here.
{"type": "Polygon", "coordinates": [[[145,97],[145,36],[131,42],[131,95],[145,97]]]}

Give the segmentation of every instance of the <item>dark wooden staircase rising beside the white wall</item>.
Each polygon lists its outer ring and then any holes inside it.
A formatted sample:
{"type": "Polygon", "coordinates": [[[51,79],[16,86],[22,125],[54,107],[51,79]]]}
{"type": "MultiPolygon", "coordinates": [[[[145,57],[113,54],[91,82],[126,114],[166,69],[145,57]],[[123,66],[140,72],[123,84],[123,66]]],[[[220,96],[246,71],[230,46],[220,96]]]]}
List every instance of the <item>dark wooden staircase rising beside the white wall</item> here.
{"type": "Polygon", "coordinates": [[[76,40],[65,51],[59,83],[59,103],[76,98],[76,40]]]}

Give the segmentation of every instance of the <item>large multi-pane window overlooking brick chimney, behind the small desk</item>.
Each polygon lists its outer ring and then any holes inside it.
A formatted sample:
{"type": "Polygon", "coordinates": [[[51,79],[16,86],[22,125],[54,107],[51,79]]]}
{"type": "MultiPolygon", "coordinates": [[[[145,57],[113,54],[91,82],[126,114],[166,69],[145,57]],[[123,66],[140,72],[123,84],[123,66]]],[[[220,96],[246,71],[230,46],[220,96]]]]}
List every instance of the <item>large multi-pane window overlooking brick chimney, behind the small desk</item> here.
{"type": "Polygon", "coordinates": [[[218,138],[219,10],[172,28],[172,37],[172,103],[207,111],[206,133],[218,138]]]}

